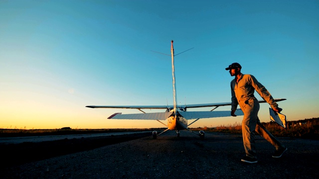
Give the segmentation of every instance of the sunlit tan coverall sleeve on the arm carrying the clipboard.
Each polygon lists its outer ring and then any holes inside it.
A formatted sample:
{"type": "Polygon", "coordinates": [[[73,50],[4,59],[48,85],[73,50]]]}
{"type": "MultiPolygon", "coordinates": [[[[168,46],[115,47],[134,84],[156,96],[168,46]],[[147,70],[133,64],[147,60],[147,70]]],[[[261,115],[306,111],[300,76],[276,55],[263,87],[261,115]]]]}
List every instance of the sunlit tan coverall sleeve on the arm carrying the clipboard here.
{"type": "Polygon", "coordinates": [[[276,108],[278,106],[277,102],[273,98],[273,96],[270,94],[270,92],[257,81],[257,79],[251,75],[251,85],[254,87],[254,89],[258,92],[258,94],[270,104],[272,108],[276,108]]]}

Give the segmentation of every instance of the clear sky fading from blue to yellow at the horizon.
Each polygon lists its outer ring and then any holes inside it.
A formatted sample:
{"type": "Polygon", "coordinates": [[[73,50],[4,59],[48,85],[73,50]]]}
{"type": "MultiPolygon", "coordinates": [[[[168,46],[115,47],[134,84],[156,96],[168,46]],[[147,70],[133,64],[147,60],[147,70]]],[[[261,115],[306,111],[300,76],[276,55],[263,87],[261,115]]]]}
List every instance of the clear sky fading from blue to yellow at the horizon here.
{"type": "Polygon", "coordinates": [[[177,105],[230,102],[225,68],[238,62],[287,99],[278,102],[287,121],[319,117],[318,17],[318,0],[0,0],[0,128],[165,127],[107,119],[136,109],[85,106],[172,105],[171,58],[160,54],[171,40],[175,54],[193,48],[174,58],[177,105]]]}

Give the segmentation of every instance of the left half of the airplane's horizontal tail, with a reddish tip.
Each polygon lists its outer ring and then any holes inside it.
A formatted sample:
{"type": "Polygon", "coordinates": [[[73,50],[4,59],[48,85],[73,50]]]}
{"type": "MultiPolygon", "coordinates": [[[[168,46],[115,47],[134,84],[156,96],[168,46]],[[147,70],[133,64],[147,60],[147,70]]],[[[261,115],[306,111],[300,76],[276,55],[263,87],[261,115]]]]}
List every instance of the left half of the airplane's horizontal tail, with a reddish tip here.
{"type": "Polygon", "coordinates": [[[115,113],[108,119],[142,119],[142,120],[166,120],[172,112],[154,112],[140,114],[121,114],[115,113]]]}

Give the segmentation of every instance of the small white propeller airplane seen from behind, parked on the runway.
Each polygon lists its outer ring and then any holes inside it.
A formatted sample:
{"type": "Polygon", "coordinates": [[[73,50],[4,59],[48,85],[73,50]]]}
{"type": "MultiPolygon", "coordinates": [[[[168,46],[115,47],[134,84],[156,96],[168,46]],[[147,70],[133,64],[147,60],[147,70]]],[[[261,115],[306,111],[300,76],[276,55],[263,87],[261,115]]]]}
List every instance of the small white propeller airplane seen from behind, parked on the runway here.
{"type": "MultiPolygon", "coordinates": [[[[190,49],[189,49],[190,50],[190,49]]],[[[187,50],[186,50],[187,51],[187,50]]],[[[180,130],[188,130],[196,135],[198,135],[201,139],[204,138],[205,132],[199,131],[199,133],[195,133],[190,130],[188,126],[196,122],[201,118],[213,118],[213,117],[228,117],[230,115],[229,111],[214,111],[219,106],[227,106],[231,105],[231,102],[222,102],[222,103],[207,103],[207,104],[185,104],[185,105],[176,105],[177,97],[176,97],[176,82],[175,82],[175,67],[174,67],[174,47],[173,40],[171,40],[171,66],[172,66],[172,83],[173,83],[173,105],[138,105],[138,106],[130,106],[130,105],[89,105],[86,107],[90,108],[124,108],[124,109],[138,109],[143,113],[136,114],[122,114],[114,113],[108,119],[133,119],[133,120],[157,120],[163,125],[167,127],[166,130],[162,131],[160,134],[166,132],[167,130],[175,130],[177,133],[177,137],[179,137],[180,130]],[[214,107],[210,111],[187,111],[188,108],[199,108],[199,107],[214,107]],[[165,112],[155,112],[155,113],[146,113],[142,109],[166,109],[165,112]],[[188,120],[195,119],[193,122],[188,124],[188,120]],[[160,120],[167,120],[167,125],[161,122],[160,120]]],[[[185,51],[184,51],[185,52],[185,51]]],[[[183,52],[182,52],[183,53],[183,52]]],[[[181,53],[179,53],[181,54],[181,53]]],[[[166,55],[166,54],[164,54],[166,55]]],[[[282,101],[286,99],[275,99],[276,101],[282,101]]],[[[260,103],[266,102],[265,100],[259,100],[260,103]]],[[[241,109],[237,109],[235,114],[237,116],[244,115],[241,109]]],[[[153,131],[153,138],[156,139],[159,136],[157,131],[153,131]]]]}

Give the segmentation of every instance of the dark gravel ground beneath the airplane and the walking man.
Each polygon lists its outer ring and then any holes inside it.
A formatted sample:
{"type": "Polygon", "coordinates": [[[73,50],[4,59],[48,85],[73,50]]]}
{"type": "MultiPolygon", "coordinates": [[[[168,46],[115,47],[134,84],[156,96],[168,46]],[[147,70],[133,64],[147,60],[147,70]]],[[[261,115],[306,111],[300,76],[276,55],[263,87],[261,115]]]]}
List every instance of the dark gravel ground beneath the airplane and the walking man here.
{"type": "Polygon", "coordinates": [[[17,151],[26,152],[19,155],[20,157],[15,157],[14,162],[1,160],[0,178],[319,178],[319,141],[317,140],[279,138],[288,147],[288,151],[282,158],[274,159],[271,157],[274,147],[257,136],[258,163],[246,164],[240,161],[244,156],[241,135],[206,132],[205,139],[201,140],[188,131],[181,131],[179,138],[175,137],[174,131],[167,131],[156,140],[151,135],[123,137],[126,139],[122,141],[121,137],[118,137],[113,140],[103,138],[96,141],[82,139],[82,142],[68,140],[68,145],[66,141],[63,144],[63,140],[42,144],[54,150],[39,145],[33,147],[30,145],[27,150],[25,146],[22,150],[19,146],[20,150],[13,150],[13,146],[17,147],[17,145],[11,145],[11,152],[3,153],[5,147],[2,146],[2,159],[5,157],[12,159],[12,156],[17,155],[17,151]],[[69,145],[70,143],[76,144],[76,147],[69,145]],[[77,148],[77,151],[70,148],[77,148]],[[37,152],[34,154],[30,151],[37,152]],[[54,151],[57,152],[52,155],[54,151]],[[61,151],[68,152],[61,154],[61,151]],[[40,155],[40,153],[44,153],[43,156],[36,158],[36,154],[40,155]],[[23,156],[31,156],[34,162],[30,162],[30,157],[28,160],[22,160],[25,158],[23,156]],[[39,159],[40,161],[37,161],[39,159]]]}

